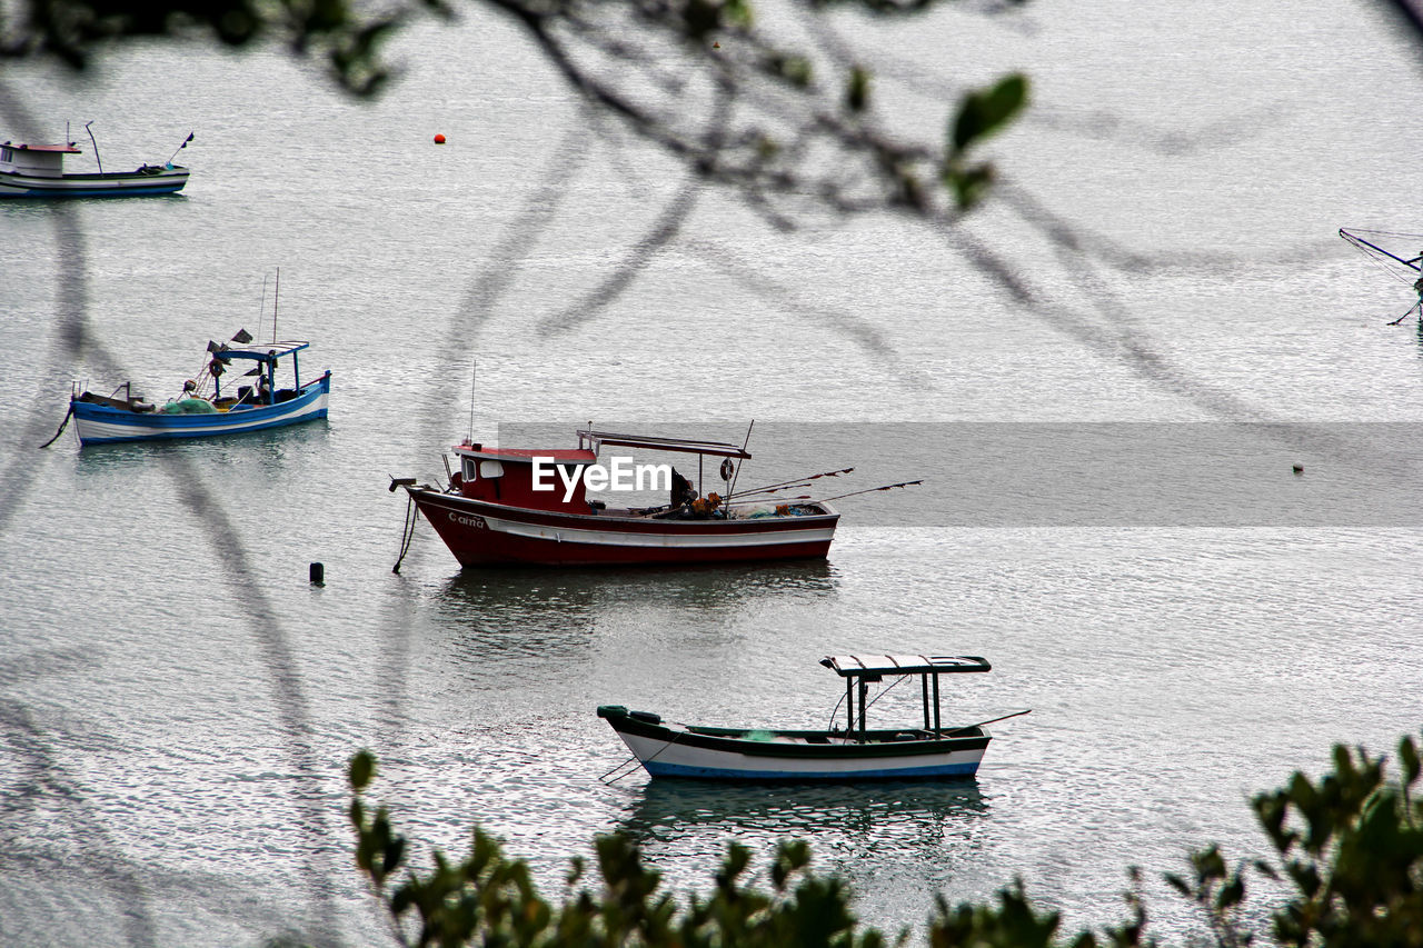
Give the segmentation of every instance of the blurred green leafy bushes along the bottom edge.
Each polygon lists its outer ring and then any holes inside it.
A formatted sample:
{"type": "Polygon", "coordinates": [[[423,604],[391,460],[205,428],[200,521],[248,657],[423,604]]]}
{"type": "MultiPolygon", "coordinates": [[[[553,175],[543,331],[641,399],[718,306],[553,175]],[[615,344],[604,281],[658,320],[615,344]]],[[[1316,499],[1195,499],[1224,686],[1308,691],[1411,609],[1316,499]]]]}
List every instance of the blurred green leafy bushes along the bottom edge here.
{"type": "MultiPolygon", "coordinates": [[[[1252,800],[1274,858],[1232,865],[1211,846],[1188,855],[1190,871],[1165,880],[1198,907],[1221,948],[1423,948],[1423,803],[1414,799],[1420,764],[1412,737],[1399,743],[1397,762],[1400,773],[1390,777],[1383,757],[1335,747],[1333,770],[1318,781],[1296,773],[1252,800]],[[1258,931],[1242,922],[1252,877],[1286,891],[1284,900],[1272,897],[1268,912],[1249,915],[1268,920],[1258,931]]],[[[583,860],[572,860],[559,904],[538,892],[524,860],[507,857],[478,827],[462,860],[435,851],[433,865],[417,870],[387,809],[371,811],[366,803],[374,774],[371,754],[351,759],[356,864],[401,945],[879,948],[911,935],[909,927],[885,935],[861,925],[847,883],[814,873],[810,846],[800,840],[780,844],[768,888],[748,878],[751,853],[733,843],[710,891],[684,898],[659,891],[660,874],[623,836],[596,838],[601,884],[593,888],[583,860]]],[[[1140,880],[1136,868],[1130,875],[1140,880]]],[[[925,939],[932,948],[1157,945],[1137,890],[1126,894],[1123,922],[1077,934],[1062,932],[1056,912],[1035,908],[1022,880],[988,904],[949,905],[941,897],[925,939]]]]}

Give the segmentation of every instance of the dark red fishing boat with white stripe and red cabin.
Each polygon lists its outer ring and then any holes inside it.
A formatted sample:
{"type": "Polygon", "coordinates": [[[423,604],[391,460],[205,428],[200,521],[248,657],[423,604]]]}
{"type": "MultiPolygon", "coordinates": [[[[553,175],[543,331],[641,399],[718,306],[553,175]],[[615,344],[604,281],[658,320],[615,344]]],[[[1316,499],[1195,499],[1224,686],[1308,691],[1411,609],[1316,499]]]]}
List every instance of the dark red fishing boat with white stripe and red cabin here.
{"type": "MultiPolygon", "coordinates": [[[[490,448],[467,441],[454,453],[460,467],[447,487],[393,478],[390,490],[406,488],[414,508],[465,567],[822,559],[840,520],[824,501],[778,501],[778,485],[737,494],[739,464],[751,455],[720,441],[579,431],[576,448],[490,448]],[[605,453],[610,447],[696,454],[699,471],[706,458],[720,458],[726,495],[703,497],[700,483],[692,485],[670,464],[633,465],[630,457],[605,453]],[[667,477],[659,478],[662,473],[667,477]],[[630,487],[618,487],[620,475],[630,487]],[[667,501],[613,507],[589,500],[589,487],[666,490],[667,501]]],[[[401,557],[414,522],[407,515],[401,557]]]]}

